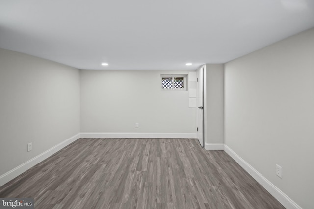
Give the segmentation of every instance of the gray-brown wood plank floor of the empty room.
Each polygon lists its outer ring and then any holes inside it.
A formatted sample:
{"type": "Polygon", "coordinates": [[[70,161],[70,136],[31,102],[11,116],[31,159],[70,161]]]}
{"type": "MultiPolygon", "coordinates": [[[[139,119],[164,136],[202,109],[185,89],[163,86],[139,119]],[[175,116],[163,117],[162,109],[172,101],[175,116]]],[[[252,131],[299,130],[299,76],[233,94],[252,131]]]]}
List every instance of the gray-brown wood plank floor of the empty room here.
{"type": "Polygon", "coordinates": [[[35,209],[284,209],[197,139],[78,139],[0,187],[35,209]]]}

